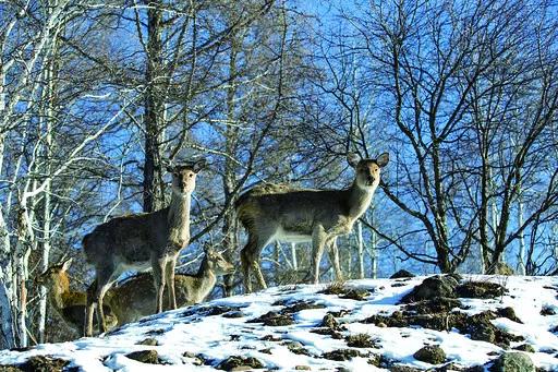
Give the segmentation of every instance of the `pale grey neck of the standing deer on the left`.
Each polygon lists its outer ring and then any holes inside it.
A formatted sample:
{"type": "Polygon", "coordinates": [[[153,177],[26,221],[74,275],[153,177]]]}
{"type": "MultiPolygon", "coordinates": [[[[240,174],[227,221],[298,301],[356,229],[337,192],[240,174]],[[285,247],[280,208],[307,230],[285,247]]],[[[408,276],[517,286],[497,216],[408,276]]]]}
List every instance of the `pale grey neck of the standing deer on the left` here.
{"type": "Polygon", "coordinates": [[[190,204],[192,194],[172,192],[167,220],[169,224],[169,240],[183,248],[190,240],[190,204]]]}

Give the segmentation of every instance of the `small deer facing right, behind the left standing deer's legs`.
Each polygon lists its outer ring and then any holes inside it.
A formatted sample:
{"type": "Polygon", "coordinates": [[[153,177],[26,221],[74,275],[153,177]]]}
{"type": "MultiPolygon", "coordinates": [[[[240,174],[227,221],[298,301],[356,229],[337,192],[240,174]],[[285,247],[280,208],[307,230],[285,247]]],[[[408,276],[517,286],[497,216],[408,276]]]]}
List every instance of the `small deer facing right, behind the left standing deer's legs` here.
{"type": "MultiPolygon", "coordinates": [[[[225,260],[221,253],[206,250],[196,274],[175,274],[177,304],[182,308],[204,302],[214,289],[218,276],[233,272],[234,265],[225,260]]],[[[155,288],[150,273],[141,273],[117,284],[106,296],[119,326],[153,314],[154,298],[155,288]]]]}

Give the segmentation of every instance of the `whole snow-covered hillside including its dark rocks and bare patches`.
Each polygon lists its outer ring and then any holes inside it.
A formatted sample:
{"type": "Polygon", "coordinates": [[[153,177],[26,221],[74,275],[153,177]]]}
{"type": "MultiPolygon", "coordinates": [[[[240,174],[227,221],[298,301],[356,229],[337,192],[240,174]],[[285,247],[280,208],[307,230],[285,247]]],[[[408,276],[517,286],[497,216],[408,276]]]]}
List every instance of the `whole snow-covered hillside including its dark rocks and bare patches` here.
{"type": "Polygon", "coordinates": [[[146,317],[98,338],[0,351],[0,364],[155,372],[414,371],[436,363],[483,371],[519,348],[537,368],[558,371],[558,278],[435,276],[415,289],[423,280],[271,288],[146,317]]]}

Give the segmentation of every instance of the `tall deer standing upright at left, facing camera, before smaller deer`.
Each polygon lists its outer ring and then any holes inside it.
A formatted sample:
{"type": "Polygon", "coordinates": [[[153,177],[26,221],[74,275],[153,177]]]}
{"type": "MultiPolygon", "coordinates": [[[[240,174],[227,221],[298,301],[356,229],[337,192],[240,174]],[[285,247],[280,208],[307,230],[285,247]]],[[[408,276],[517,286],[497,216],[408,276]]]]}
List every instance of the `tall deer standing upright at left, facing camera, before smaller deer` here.
{"type": "Polygon", "coordinates": [[[196,176],[204,159],[167,170],[172,175],[169,206],[151,213],[112,218],[83,238],[86,260],[95,266],[95,280],[87,289],[86,336],[93,335],[93,314],[97,308],[101,332],[107,331],[102,299],[112,284],[128,269],[151,268],[156,289],[155,312],[162,312],[162,295],[169,285],[169,301],[177,309],[174,267],[181,250],[190,242],[190,205],[196,176]]]}

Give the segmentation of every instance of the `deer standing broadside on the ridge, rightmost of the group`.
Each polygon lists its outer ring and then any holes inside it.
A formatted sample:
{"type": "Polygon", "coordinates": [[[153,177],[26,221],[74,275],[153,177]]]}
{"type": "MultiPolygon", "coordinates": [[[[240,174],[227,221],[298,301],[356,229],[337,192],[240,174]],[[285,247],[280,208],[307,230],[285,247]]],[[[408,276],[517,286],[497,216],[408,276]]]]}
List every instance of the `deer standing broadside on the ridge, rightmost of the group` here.
{"type": "MultiPolygon", "coordinates": [[[[361,159],[348,154],[347,161],[355,169],[352,184],[342,190],[299,189],[289,184],[258,184],[234,203],[236,218],[247,232],[241,250],[244,290],[252,292],[251,274],[262,288],[267,288],[259,267],[262,250],[269,243],[312,242],[311,275],[319,283],[319,264],[326,247],[336,250],[338,236],[347,235],[368,208],[379,184],[380,170],[389,163],[389,154],[361,159]]],[[[333,252],[336,253],[336,252],[333,252]]],[[[341,280],[339,260],[331,260],[341,280]]]]}

